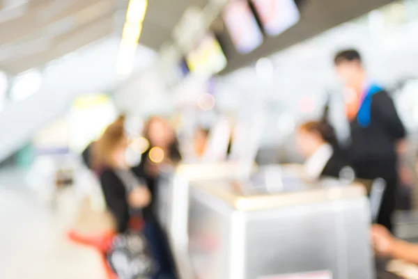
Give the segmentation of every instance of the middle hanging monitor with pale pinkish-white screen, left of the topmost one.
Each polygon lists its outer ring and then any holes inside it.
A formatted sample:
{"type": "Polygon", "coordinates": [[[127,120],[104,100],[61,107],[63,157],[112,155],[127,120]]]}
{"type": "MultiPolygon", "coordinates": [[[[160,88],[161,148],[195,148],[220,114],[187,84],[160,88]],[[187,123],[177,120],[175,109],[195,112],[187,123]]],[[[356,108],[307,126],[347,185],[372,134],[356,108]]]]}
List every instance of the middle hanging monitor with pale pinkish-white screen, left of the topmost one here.
{"type": "Polygon", "coordinates": [[[263,33],[247,0],[231,1],[224,9],[223,18],[240,54],[248,54],[263,43],[263,33]]]}

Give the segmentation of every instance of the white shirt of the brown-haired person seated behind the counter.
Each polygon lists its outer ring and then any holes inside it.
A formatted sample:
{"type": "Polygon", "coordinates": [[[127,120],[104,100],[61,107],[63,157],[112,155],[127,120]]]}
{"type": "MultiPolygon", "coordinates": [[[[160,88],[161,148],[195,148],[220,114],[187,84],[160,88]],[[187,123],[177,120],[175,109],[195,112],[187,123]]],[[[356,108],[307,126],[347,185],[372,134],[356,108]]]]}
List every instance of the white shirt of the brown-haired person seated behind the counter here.
{"type": "Polygon", "coordinates": [[[304,174],[309,180],[318,180],[323,169],[330,161],[334,150],[328,143],[320,145],[320,147],[305,161],[304,174]]]}

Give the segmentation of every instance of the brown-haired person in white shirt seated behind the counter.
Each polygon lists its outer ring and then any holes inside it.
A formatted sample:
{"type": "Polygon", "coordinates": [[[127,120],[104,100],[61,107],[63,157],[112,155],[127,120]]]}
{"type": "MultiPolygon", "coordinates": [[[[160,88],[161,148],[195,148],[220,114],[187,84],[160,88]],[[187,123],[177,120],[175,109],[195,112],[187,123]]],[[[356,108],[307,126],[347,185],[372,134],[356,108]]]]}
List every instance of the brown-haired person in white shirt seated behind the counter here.
{"type": "Polygon", "coordinates": [[[308,180],[320,177],[339,177],[347,166],[338,148],[332,126],[324,121],[310,121],[301,125],[297,131],[297,148],[306,159],[304,175],[308,180]]]}

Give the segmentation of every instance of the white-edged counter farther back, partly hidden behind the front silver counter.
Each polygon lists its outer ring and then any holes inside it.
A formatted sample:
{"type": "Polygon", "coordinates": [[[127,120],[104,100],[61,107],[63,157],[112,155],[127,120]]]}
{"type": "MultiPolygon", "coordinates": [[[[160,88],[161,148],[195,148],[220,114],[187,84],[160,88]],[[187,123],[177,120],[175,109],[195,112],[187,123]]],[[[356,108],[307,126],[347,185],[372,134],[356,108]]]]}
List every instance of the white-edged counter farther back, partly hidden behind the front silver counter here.
{"type": "MultiPolygon", "coordinates": [[[[181,279],[192,279],[188,257],[189,186],[199,181],[236,178],[235,164],[194,164],[167,167],[160,173],[155,212],[166,232],[181,279]]],[[[213,279],[213,278],[212,278],[213,279]]]]}

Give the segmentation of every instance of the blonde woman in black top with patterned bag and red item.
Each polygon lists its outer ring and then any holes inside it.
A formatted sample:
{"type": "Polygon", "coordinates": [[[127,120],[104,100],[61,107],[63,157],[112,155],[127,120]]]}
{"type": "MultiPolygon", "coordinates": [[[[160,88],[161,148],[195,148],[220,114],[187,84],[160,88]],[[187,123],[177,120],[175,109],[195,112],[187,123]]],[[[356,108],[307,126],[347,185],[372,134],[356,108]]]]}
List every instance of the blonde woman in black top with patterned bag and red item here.
{"type": "MultiPolygon", "coordinates": [[[[70,239],[92,245],[104,252],[107,256],[107,263],[113,269],[113,271],[108,270],[109,273],[116,272],[118,275],[129,273],[133,276],[141,272],[141,276],[144,274],[148,276],[157,272],[153,253],[148,254],[148,250],[138,246],[132,246],[132,248],[131,246],[116,245],[116,243],[120,244],[126,241],[137,241],[135,243],[141,241],[143,243],[145,239],[145,243],[148,244],[148,239],[152,237],[149,233],[147,235],[149,229],[142,216],[144,207],[150,203],[150,191],[125,163],[126,148],[127,136],[125,135],[123,118],[118,118],[105,129],[100,139],[95,141],[88,152],[90,155],[88,158],[89,167],[98,175],[107,209],[114,217],[116,240],[114,240],[114,232],[107,232],[93,238],[71,232],[70,239]],[[142,238],[143,235],[145,239],[142,238]],[[116,255],[119,259],[123,256],[126,261],[140,261],[141,264],[133,266],[131,270],[131,268],[121,265],[120,260],[115,260],[116,255]]],[[[144,247],[148,247],[148,245],[144,247]]],[[[137,278],[137,276],[132,278],[137,278]]]]}

